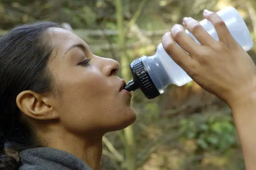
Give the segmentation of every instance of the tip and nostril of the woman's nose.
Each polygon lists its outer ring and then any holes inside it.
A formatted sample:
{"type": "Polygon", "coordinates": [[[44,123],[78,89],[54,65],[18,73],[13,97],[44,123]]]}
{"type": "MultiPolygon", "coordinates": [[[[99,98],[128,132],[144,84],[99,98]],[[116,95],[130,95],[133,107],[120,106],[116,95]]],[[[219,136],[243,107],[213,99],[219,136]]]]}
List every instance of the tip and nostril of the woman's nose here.
{"type": "Polygon", "coordinates": [[[111,58],[103,58],[103,59],[105,64],[102,72],[105,73],[107,76],[116,75],[120,69],[119,62],[111,58]]]}

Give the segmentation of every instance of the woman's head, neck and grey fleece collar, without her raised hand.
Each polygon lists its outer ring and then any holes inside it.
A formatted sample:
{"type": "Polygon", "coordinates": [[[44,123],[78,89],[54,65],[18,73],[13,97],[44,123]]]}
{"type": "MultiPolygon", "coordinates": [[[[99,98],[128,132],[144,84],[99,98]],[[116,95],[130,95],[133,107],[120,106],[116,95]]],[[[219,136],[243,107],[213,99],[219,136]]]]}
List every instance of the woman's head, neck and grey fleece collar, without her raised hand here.
{"type": "Polygon", "coordinates": [[[118,71],[52,22],[1,37],[1,152],[20,151],[21,166],[2,154],[0,169],[99,169],[102,136],[136,119],[118,71]]]}

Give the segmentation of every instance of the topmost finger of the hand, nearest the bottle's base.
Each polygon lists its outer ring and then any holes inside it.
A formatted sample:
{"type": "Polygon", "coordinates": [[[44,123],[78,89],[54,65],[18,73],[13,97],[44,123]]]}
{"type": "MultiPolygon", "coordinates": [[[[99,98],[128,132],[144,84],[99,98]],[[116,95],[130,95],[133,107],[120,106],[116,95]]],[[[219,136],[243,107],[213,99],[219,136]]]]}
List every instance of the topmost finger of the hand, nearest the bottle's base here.
{"type": "Polygon", "coordinates": [[[215,12],[205,9],[204,18],[210,21],[215,27],[219,41],[224,43],[230,43],[234,41],[234,38],[231,36],[228,27],[219,15],[217,15],[215,12]]]}

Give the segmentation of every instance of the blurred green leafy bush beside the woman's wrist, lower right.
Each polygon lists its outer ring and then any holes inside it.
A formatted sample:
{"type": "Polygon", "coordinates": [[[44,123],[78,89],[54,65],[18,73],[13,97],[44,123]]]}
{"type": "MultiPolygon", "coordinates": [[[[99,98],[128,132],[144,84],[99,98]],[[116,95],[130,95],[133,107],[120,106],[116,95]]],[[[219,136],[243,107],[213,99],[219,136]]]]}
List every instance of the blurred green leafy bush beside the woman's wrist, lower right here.
{"type": "Polygon", "coordinates": [[[230,116],[224,116],[221,120],[210,117],[205,122],[202,115],[195,114],[197,122],[190,119],[180,121],[180,131],[185,139],[196,139],[198,147],[204,150],[227,151],[236,146],[236,131],[230,116]],[[200,123],[199,123],[200,122],[200,123]]]}

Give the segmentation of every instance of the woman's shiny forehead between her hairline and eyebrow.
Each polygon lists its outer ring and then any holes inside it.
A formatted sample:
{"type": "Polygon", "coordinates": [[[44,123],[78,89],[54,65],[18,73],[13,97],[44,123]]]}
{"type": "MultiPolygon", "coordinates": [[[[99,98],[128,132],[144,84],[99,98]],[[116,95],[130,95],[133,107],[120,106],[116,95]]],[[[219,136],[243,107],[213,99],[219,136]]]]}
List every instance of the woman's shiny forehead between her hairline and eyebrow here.
{"type": "Polygon", "coordinates": [[[53,51],[55,52],[64,52],[74,44],[87,45],[82,38],[63,28],[49,28],[47,34],[52,42],[53,51]]]}

